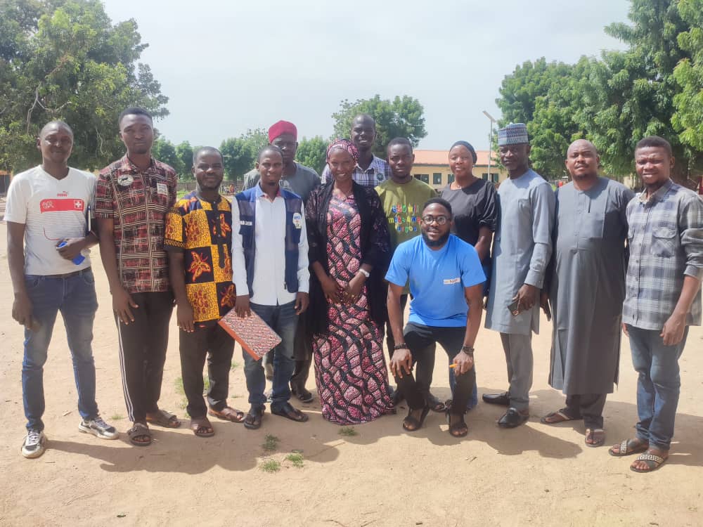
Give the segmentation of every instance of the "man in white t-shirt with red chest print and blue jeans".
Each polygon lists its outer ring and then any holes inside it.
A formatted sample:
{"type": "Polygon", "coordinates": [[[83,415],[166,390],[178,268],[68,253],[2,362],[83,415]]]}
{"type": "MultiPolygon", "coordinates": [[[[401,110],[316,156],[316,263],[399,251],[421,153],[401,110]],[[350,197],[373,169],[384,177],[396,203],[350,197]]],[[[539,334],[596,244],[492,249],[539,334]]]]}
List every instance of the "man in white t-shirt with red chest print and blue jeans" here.
{"type": "Polygon", "coordinates": [[[27,417],[24,457],[44,453],[44,363],[58,311],[63,316],[78,391],[79,431],[116,439],[95,401],[93,319],[98,308],[89,247],[95,176],[68,167],[73,131],[61,121],[46,124],[37,138],[41,164],[17,174],[7,193],[5,221],[12,317],[25,326],[22,401],[27,417]],[[87,233],[87,234],[86,234],[87,233]]]}

